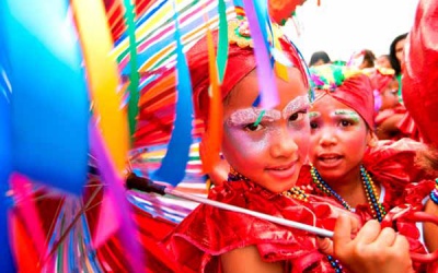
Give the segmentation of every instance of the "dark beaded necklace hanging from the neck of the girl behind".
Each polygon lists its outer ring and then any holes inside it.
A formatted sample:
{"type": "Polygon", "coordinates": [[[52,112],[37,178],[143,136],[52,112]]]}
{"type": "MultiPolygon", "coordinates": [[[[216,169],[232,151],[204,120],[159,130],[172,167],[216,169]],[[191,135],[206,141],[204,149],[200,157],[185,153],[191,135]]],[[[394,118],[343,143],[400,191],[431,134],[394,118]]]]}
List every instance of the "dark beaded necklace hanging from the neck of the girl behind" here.
{"type": "MultiPolygon", "coordinates": [[[[310,173],[312,175],[313,182],[316,185],[316,187],[322,192],[324,192],[327,195],[334,197],[337,201],[341,202],[341,204],[345,209],[347,209],[348,211],[353,211],[351,206],[347,203],[347,201],[345,201],[324,180],[322,180],[320,174],[313,166],[310,169],[310,173]]],[[[368,171],[365,169],[364,166],[360,166],[360,178],[364,182],[364,189],[367,194],[367,200],[370,205],[372,216],[374,218],[377,218],[379,222],[382,222],[384,215],[387,215],[387,212],[384,211],[383,205],[381,203],[379,203],[378,198],[377,198],[374,182],[372,181],[371,176],[368,174],[368,171]]],[[[336,260],[332,256],[327,256],[327,259],[328,259],[330,264],[332,265],[332,268],[335,270],[336,273],[343,272],[343,268],[338,260],[336,260]]]]}

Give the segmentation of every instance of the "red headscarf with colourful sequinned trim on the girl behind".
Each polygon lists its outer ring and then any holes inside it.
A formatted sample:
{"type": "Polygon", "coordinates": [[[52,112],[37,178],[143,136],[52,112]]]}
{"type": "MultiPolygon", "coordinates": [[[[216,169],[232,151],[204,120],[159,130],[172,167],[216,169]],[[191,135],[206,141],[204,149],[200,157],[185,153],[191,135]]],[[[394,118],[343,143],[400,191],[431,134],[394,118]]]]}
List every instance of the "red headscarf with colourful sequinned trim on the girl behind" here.
{"type": "MultiPolygon", "coordinates": [[[[316,92],[336,98],[357,111],[371,130],[374,128],[374,97],[366,74],[344,66],[324,64],[312,68],[310,76],[316,92]]],[[[320,95],[316,93],[316,99],[320,95]]]]}

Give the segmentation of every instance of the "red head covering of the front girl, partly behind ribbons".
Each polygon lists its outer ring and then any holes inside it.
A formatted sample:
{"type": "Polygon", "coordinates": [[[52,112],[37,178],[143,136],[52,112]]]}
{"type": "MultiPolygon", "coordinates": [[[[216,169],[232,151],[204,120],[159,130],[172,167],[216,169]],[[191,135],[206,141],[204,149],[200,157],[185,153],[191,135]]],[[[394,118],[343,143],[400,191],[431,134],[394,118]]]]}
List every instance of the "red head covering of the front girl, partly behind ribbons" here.
{"type": "MultiPolygon", "coordinates": [[[[238,24],[238,27],[239,25],[242,24],[238,24]]],[[[233,24],[229,23],[229,26],[233,26],[233,24]]],[[[233,29],[232,27],[229,27],[228,31],[231,35],[235,33],[235,29],[233,29]]],[[[215,49],[217,49],[216,47],[218,44],[218,31],[215,31],[212,33],[212,37],[215,49]]],[[[241,39],[246,45],[241,45],[240,43],[238,45],[238,43],[233,40],[233,44],[230,43],[228,49],[227,68],[222,84],[220,86],[222,99],[244,76],[253,71],[257,64],[254,56],[254,49],[252,48],[252,46],[250,46],[250,41],[252,43],[251,38],[241,37],[241,39]]],[[[308,85],[306,69],[302,66],[301,59],[299,58],[296,48],[287,43],[284,38],[280,38],[279,43],[286,56],[289,57],[289,60],[293,63],[295,67],[297,67],[301,71],[304,84],[308,85]]],[[[208,73],[207,48],[207,37],[204,36],[186,54],[193,86],[195,112],[197,118],[206,118],[209,108],[208,87],[210,85],[210,79],[208,73]]]]}

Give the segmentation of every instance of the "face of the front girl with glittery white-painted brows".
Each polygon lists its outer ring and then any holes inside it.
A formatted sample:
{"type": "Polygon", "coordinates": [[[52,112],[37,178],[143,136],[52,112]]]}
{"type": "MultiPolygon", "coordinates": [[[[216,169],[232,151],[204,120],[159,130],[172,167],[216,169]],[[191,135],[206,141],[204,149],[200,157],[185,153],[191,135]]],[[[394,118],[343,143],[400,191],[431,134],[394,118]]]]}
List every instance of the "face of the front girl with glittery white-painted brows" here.
{"type": "Polygon", "coordinates": [[[301,74],[288,69],[288,81],[276,78],[279,105],[252,107],[258,95],[255,71],[223,103],[222,153],[243,176],[273,192],[295,186],[309,150],[308,93],[301,74]]]}

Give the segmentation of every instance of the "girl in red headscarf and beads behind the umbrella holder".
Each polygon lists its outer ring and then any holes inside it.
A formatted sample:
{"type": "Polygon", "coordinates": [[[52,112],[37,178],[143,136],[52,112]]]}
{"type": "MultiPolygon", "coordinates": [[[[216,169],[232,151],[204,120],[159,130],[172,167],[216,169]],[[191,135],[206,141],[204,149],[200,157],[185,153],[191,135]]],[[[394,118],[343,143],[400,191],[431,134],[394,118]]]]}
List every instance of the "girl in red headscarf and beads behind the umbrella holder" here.
{"type": "MultiPolygon", "coordinates": [[[[331,197],[346,210],[379,222],[399,204],[423,207],[425,192],[434,183],[411,183],[428,177],[414,164],[423,144],[408,139],[377,140],[369,78],[339,66],[314,68],[310,73],[315,88],[309,112],[310,192],[331,197]]],[[[414,237],[410,242],[412,249],[425,251],[414,237]]]]}

